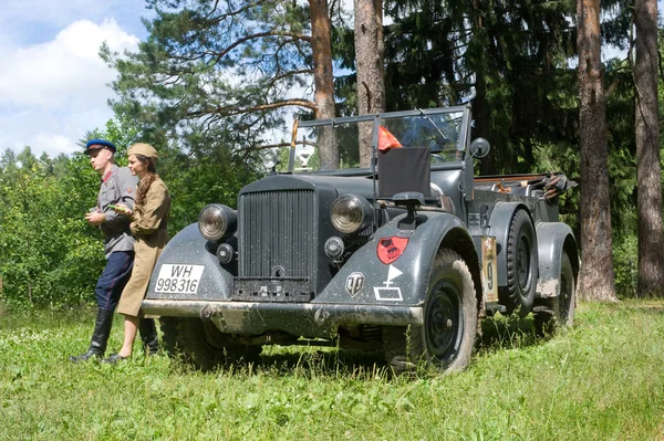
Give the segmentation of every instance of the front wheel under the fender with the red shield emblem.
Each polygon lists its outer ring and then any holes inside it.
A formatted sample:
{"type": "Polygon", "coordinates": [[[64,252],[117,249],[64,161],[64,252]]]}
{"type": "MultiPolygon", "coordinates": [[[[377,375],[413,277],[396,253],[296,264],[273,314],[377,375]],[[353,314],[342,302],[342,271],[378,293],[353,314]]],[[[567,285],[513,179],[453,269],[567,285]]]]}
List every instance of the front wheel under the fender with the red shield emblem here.
{"type": "Polygon", "coordinates": [[[468,365],[477,335],[477,298],[470,271],[456,252],[442,249],[436,254],[424,303],[424,326],[411,326],[409,335],[401,340],[405,343],[402,354],[407,354],[405,364],[405,357],[394,350],[393,339],[394,332],[403,328],[387,329],[385,355],[398,370],[423,361],[444,372],[468,365]]]}

